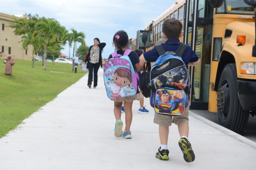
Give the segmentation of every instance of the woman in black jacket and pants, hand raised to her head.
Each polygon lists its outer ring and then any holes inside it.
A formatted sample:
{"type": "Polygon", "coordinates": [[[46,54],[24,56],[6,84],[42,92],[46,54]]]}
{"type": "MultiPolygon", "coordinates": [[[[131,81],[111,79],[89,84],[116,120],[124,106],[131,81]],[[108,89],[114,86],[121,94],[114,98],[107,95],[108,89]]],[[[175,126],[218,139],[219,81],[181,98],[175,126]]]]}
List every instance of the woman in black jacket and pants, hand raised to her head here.
{"type": "Polygon", "coordinates": [[[88,87],[91,88],[92,86],[92,73],[93,73],[93,88],[97,87],[98,82],[98,70],[101,66],[102,68],[102,57],[101,51],[106,46],[105,42],[100,42],[98,38],[94,39],[94,45],[90,46],[88,57],[86,58],[85,62],[87,63],[87,68],[89,70],[88,76],[88,87]]]}

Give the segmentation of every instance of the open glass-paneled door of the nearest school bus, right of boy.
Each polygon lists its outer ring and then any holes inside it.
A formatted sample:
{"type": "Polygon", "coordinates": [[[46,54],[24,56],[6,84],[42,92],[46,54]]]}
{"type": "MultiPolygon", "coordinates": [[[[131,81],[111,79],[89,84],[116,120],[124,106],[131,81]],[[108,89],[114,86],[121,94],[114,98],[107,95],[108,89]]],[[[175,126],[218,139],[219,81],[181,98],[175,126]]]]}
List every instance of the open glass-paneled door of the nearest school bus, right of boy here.
{"type": "Polygon", "coordinates": [[[213,8],[208,0],[187,0],[184,42],[196,52],[201,64],[190,67],[190,109],[207,110],[210,81],[210,58],[213,8]]]}

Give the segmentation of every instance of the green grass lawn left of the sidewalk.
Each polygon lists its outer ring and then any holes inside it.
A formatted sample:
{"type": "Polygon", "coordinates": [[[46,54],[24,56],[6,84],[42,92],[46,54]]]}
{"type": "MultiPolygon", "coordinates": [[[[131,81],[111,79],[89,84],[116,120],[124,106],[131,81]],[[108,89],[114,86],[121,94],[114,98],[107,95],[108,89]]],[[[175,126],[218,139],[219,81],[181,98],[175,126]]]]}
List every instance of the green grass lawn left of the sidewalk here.
{"type": "Polygon", "coordinates": [[[42,62],[14,61],[10,77],[0,59],[0,138],[86,74],[81,65],[75,74],[71,64],[46,62],[43,70],[42,62]]]}

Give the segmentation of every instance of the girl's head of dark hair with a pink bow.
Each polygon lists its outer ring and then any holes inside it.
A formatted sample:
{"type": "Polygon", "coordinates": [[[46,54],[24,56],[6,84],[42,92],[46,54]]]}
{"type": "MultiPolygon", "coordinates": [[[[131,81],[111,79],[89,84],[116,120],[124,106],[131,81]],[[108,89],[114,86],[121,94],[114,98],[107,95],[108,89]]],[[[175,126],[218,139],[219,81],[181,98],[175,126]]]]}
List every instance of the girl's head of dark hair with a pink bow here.
{"type": "Polygon", "coordinates": [[[126,47],[129,42],[129,37],[125,31],[117,31],[113,37],[113,42],[116,43],[118,50],[122,50],[122,48],[126,47]]]}

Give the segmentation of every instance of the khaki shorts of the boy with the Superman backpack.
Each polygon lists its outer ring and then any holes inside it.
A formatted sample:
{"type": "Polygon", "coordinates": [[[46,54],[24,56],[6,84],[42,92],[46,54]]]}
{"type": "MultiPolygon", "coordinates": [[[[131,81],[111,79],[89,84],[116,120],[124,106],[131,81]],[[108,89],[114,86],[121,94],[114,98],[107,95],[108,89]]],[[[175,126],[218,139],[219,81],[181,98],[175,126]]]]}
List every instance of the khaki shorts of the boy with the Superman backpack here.
{"type": "Polygon", "coordinates": [[[175,125],[178,125],[181,122],[187,122],[188,119],[188,111],[189,111],[189,105],[185,109],[184,113],[181,116],[168,116],[168,115],[162,115],[155,112],[154,117],[154,123],[161,125],[161,126],[171,126],[172,123],[175,125]]]}

